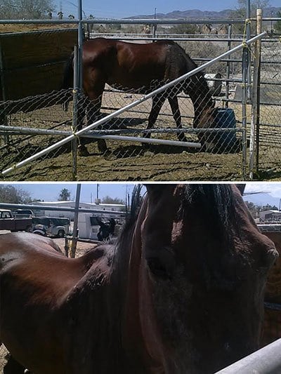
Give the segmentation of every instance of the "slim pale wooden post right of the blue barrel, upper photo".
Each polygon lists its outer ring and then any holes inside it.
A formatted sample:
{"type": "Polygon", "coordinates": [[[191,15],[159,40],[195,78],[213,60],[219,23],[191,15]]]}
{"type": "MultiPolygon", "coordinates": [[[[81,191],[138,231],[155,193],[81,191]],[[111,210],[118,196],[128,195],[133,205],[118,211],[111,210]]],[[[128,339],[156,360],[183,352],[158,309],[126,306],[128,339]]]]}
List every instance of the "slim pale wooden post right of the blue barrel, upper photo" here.
{"type": "MultiPolygon", "coordinates": [[[[261,34],[263,11],[261,9],[256,10],[256,34],[261,34]]],[[[252,102],[251,102],[251,133],[250,133],[250,145],[249,145],[249,178],[254,178],[254,161],[255,152],[258,152],[259,144],[256,143],[256,135],[259,134],[258,123],[259,123],[259,82],[260,82],[260,69],[261,65],[261,39],[257,40],[254,46],[254,77],[253,77],[253,89],[252,89],[252,102]],[[257,131],[256,131],[257,130],[257,131]]],[[[258,159],[256,159],[256,165],[258,159]]]]}

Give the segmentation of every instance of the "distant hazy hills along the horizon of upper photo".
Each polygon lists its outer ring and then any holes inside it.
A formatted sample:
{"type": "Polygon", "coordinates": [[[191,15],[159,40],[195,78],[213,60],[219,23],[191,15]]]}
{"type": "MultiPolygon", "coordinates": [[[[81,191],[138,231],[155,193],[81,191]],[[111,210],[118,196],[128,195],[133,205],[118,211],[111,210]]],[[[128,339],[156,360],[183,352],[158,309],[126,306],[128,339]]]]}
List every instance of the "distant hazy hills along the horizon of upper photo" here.
{"type": "MultiPolygon", "coordinates": [[[[263,9],[263,17],[276,17],[277,12],[281,12],[281,7],[276,8],[274,6],[264,8],[263,9]]],[[[171,13],[157,13],[157,18],[158,19],[163,19],[163,18],[168,18],[168,19],[199,19],[199,20],[204,20],[204,19],[224,19],[224,18],[230,18],[230,14],[233,12],[231,9],[226,9],[224,11],[219,11],[219,12],[213,12],[213,11],[200,11],[199,9],[192,9],[188,11],[173,11],[171,13]]],[[[134,15],[132,17],[128,17],[130,19],[146,19],[146,18],[154,18],[154,14],[150,15],[134,15]]]]}

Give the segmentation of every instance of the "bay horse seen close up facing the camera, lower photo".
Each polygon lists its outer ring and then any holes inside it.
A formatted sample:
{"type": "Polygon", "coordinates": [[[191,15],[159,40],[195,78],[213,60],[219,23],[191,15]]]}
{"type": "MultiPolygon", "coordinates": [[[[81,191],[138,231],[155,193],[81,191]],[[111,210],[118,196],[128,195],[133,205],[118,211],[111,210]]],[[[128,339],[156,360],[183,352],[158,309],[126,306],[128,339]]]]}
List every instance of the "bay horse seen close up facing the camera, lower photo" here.
{"type": "Polygon", "coordinates": [[[139,189],[117,241],[79,258],[1,235],[0,340],[32,373],[209,374],[259,347],[277,252],[237,187],[139,189]]]}

